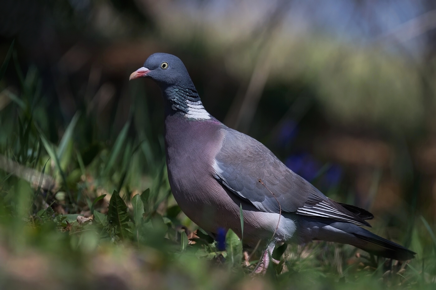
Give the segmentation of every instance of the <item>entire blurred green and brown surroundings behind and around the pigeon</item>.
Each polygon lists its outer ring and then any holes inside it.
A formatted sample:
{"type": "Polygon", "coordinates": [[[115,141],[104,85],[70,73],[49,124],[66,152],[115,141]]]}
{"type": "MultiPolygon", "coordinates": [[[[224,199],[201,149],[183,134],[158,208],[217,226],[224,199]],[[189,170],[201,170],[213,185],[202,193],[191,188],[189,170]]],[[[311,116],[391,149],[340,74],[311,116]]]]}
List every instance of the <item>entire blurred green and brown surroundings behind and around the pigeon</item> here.
{"type": "Polygon", "coordinates": [[[435,1],[1,0],[0,64],[0,287],[434,287],[435,1]],[[159,88],[128,81],[155,52],[416,259],[317,242],[265,277],[249,249],[225,261],[171,196],[159,88]]]}

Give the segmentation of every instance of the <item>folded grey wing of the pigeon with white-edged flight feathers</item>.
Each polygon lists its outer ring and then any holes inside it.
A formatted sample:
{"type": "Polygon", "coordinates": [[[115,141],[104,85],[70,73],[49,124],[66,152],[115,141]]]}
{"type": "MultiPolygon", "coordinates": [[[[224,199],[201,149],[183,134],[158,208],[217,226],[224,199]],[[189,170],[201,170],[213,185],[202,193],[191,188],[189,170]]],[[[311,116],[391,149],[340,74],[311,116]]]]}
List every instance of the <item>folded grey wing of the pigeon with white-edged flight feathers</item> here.
{"type": "Polygon", "coordinates": [[[230,128],[222,130],[226,132],[215,156],[215,178],[257,209],[279,212],[281,208],[283,212],[370,226],[288,169],[262,143],[230,128]]]}

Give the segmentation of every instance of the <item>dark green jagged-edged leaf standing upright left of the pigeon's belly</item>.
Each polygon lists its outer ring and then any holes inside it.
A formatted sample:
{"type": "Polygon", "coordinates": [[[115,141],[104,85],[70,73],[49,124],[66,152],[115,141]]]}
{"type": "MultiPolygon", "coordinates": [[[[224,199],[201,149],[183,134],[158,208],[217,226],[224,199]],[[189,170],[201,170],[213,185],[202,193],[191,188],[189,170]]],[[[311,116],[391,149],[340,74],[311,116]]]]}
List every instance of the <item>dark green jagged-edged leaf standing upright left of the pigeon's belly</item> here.
{"type": "Polygon", "coordinates": [[[115,234],[121,239],[128,236],[127,229],[129,225],[127,222],[129,222],[129,219],[126,203],[119,196],[118,192],[114,190],[109,201],[108,221],[114,227],[115,234]]]}

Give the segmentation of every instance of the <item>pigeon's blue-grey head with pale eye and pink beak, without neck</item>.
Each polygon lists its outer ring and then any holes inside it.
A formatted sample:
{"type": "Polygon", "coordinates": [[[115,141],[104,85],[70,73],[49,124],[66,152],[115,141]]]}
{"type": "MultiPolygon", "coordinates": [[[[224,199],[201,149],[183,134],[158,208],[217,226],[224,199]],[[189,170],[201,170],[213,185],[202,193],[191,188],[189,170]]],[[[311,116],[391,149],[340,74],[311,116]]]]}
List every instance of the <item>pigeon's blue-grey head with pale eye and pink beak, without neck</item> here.
{"type": "Polygon", "coordinates": [[[150,55],[143,67],[130,74],[130,80],[135,78],[151,78],[161,88],[169,86],[191,86],[192,81],[180,58],[172,54],[156,53],[150,55]]]}

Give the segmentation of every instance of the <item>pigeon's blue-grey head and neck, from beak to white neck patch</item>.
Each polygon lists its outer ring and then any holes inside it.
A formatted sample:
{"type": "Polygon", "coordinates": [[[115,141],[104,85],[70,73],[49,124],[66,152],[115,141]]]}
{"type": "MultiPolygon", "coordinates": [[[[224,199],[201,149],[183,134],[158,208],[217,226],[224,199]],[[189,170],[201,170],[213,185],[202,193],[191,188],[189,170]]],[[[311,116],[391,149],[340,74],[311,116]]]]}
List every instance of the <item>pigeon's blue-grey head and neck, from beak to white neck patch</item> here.
{"type": "Polygon", "coordinates": [[[166,114],[177,113],[191,119],[211,118],[180,58],[172,54],[152,54],[143,67],[130,74],[130,80],[142,77],[151,78],[159,85],[164,95],[166,114]]]}

